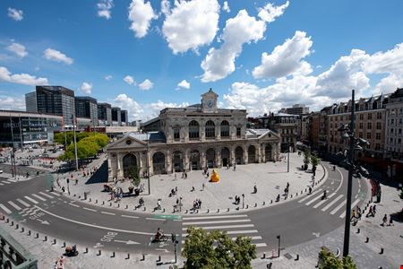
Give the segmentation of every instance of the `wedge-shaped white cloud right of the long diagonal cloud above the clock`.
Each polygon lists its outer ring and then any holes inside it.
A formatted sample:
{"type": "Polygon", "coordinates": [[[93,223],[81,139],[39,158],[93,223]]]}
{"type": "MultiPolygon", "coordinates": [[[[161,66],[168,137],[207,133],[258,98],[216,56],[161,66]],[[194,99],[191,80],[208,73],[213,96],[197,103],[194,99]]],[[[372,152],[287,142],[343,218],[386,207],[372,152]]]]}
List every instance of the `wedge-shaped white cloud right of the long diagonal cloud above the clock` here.
{"type": "Polygon", "coordinates": [[[262,64],[254,67],[253,77],[277,78],[289,74],[312,73],[311,65],[302,61],[311,54],[312,45],[311,37],[307,38],[304,31],[297,30],[292,39],[287,39],[274,48],[271,54],[263,52],[262,64]]]}

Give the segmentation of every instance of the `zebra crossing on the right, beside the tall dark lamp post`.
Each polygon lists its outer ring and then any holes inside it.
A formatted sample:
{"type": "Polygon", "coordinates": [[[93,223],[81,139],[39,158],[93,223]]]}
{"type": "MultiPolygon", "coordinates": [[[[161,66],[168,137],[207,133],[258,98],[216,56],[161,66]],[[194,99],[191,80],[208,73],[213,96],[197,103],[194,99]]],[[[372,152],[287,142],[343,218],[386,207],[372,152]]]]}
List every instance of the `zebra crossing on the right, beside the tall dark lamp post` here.
{"type": "MultiPolygon", "coordinates": [[[[339,218],[344,219],[346,217],[346,196],[338,195],[338,193],[334,192],[328,195],[327,199],[322,199],[322,195],[322,188],[319,188],[311,195],[306,195],[304,198],[298,200],[298,203],[312,206],[314,209],[320,209],[322,212],[329,212],[330,215],[339,214],[339,218]]],[[[360,201],[359,198],[356,198],[351,204],[351,209],[360,203],[360,201]]]]}

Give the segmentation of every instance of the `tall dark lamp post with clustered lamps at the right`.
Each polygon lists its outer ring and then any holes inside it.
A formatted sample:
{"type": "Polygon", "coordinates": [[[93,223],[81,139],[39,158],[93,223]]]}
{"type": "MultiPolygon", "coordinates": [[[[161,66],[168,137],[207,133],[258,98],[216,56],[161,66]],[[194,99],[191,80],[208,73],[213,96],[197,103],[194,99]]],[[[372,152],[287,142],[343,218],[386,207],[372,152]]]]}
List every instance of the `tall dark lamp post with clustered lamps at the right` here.
{"type": "Polygon", "coordinates": [[[350,219],[351,219],[351,196],[352,196],[352,187],[353,187],[353,173],[356,172],[358,176],[363,173],[364,169],[354,164],[354,153],[355,150],[362,151],[363,146],[369,145],[369,143],[363,138],[355,137],[355,110],[356,110],[356,101],[355,101],[355,91],[353,90],[351,93],[351,118],[349,125],[342,125],[339,127],[338,131],[342,132],[342,139],[349,141],[349,151],[348,151],[348,181],[347,181],[347,204],[346,204],[346,219],[344,226],[344,246],[343,246],[343,257],[348,256],[348,248],[350,241],[350,219]]]}

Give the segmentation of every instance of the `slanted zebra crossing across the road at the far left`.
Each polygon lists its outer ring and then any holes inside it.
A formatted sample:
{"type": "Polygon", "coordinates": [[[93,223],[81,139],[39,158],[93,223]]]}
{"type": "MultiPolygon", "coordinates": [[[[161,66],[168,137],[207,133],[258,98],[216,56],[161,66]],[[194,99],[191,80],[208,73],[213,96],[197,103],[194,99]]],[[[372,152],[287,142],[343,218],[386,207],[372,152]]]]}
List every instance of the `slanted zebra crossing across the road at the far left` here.
{"type": "Polygon", "coordinates": [[[47,194],[39,192],[38,194],[25,195],[21,198],[16,198],[14,201],[5,201],[3,204],[0,203],[0,211],[3,210],[3,212],[7,214],[13,212],[26,213],[25,211],[28,208],[34,208],[33,205],[46,202],[57,196],[59,196],[59,194],[53,192],[48,192],[47,194]]]}

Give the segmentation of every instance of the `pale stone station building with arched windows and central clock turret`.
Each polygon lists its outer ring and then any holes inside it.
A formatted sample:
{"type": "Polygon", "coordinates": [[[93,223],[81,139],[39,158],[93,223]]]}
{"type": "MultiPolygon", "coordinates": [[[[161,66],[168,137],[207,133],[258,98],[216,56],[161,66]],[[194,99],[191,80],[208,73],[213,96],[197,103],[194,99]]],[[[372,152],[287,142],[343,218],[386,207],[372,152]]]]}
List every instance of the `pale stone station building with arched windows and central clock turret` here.
{"type": "Polygon", "coordinates": [[[109,180],[250,162],[279,160],[280,136],[270,129],[246,129],[246,110],[217,107],[218,95],[201,95],[201,105],[165,108],[159,132],[126,134],[107,147],[109,180]]]}

